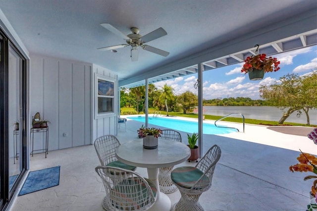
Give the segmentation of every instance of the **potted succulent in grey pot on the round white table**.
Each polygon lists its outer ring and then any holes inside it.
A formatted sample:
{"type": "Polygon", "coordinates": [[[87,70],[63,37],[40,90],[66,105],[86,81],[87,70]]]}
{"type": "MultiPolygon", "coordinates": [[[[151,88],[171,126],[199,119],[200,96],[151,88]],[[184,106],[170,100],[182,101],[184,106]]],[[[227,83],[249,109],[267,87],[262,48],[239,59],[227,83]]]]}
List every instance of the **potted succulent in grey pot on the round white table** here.
{"type": "Polygon", "coordinates": [[[158,147],[160,134],[162,134],[162,130],[155,127],[152,127],[152,128],[141,127],[138,130],[138,136],[140,138],[143,138],[143,148],[148,150],[153,150],[158,147]]]}

